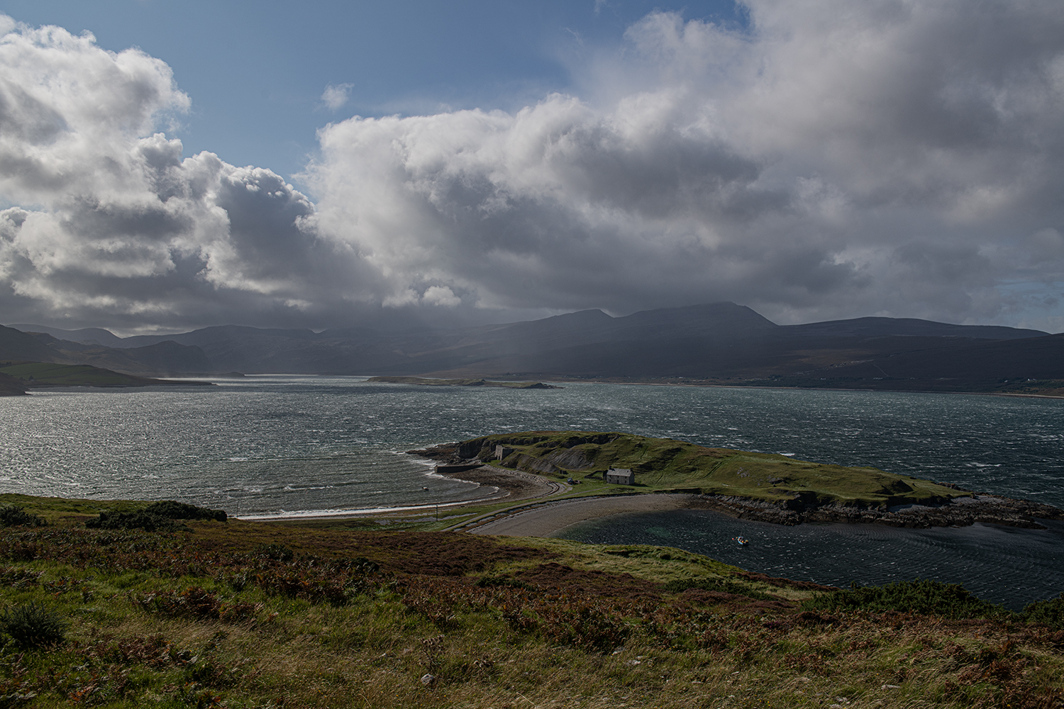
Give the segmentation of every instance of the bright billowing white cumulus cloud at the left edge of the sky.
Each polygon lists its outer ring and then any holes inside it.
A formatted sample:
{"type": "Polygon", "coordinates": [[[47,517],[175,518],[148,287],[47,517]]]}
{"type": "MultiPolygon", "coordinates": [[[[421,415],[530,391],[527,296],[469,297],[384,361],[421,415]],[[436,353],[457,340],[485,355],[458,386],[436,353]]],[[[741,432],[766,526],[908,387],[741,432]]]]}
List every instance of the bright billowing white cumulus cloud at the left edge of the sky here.
{"type": "Polygon", "coordinates": [[[5,319],[261,324],[372,296],[372,274],[315,232],[292,185],[182,158],[154,132],[189,105],[164,63],[59,28],[0,30],[0,193],[28,205],[0,212],[5,319]]]}

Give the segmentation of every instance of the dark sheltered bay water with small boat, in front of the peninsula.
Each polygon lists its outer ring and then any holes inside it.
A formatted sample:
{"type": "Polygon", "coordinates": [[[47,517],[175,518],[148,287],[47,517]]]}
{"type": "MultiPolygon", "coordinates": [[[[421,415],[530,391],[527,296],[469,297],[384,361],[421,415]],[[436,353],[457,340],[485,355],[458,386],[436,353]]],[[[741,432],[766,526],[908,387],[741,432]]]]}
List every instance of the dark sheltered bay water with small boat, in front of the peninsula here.
{"type": "Polygon", "coordinates": [[[769,576],[828,586],[930,578],[1019,610],[1064,591],[1064,523],[1048,529],[988,524],[902,529],[878,524],[785,527],[712,510],[617,514],[566,528],[594,544],[659,544],[769,576]],[[734,537],[750,540],[739,546],[734,537]]]}

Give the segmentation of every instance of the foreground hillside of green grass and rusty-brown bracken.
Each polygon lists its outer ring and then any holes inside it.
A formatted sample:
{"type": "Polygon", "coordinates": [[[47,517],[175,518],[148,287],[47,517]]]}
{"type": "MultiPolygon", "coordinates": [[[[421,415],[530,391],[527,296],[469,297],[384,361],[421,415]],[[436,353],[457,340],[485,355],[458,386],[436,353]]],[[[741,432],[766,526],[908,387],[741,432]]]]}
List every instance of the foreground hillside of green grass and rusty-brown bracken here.
{"type": "Polygon", "coordinates": [[[0,707],[1064,700],[1059,614],[1031,624],[953,592],[916,614],[672,548],[236,520],[96,530],[32,500],[50,524],[0,529],[0,596],[9,615],[45,604],[65,639],[9,627],[0,707]]]}

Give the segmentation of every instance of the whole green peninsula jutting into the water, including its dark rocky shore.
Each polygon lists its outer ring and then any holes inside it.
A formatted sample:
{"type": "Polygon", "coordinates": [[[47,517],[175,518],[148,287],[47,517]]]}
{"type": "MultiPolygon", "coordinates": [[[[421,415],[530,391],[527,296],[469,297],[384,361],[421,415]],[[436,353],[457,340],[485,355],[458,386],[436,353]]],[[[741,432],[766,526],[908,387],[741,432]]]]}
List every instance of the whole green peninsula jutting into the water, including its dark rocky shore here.
{"type": "Polygon", "coordinates": [[[1040,527],[1034,518],[1064,518],[1062,510],[1049,505],[977,494],[876,468],[811,462],[616,432],[499,434],[439,449],[450,455],[451,462],[476,459],[579,482],[565,496],[682,492],[737,517],[780,524],[838,521],[948,526],[992,521],[1040,527]],[[631,470],[634,484],[606,482],[605,472],[611,468],[631,470]]]}

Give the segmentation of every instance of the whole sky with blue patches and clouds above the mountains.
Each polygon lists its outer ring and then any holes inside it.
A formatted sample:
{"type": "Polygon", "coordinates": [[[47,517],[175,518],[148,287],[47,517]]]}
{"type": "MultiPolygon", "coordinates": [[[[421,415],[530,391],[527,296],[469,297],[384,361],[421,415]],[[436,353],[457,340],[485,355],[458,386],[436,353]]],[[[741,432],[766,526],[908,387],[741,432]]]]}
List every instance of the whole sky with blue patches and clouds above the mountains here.
{"type": "Polygon", "coordinates": [[[0,14],[0,322],[1064,331],[1059,0],[0,14]]]}

